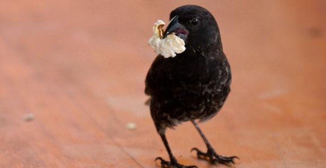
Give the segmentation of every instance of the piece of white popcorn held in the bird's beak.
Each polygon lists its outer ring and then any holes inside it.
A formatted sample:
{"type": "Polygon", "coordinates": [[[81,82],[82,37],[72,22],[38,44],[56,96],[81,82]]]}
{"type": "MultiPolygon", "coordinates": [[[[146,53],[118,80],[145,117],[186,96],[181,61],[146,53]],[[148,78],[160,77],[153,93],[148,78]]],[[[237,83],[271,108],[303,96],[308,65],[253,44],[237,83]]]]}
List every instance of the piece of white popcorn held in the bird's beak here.
{"type": "Polygon", "coordinates": [[[163,26],[165,23],[158,20],[153,27],[153,36],[149,39],[148,44],[155,49],[155,53],[163,55],[164,58],[175,57],[176,54],[186,50],[185,42],[174,34],[167,35],[161,39],[164,34],[163,26]]]}

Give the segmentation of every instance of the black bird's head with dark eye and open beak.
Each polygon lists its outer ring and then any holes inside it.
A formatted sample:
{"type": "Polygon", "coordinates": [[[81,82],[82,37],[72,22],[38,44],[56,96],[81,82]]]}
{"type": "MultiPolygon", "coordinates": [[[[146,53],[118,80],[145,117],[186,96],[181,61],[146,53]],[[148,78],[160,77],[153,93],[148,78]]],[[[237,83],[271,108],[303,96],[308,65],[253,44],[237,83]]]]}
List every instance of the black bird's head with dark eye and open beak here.
{"type": "Polygon", "coordinates": [[[170,13],[170,22],[165,29],[163,39],[169,34],[183,39],[186,48],[188,46],[194,50],[221,41],[213,15],[197,5],[180,6],[170,13]]]}

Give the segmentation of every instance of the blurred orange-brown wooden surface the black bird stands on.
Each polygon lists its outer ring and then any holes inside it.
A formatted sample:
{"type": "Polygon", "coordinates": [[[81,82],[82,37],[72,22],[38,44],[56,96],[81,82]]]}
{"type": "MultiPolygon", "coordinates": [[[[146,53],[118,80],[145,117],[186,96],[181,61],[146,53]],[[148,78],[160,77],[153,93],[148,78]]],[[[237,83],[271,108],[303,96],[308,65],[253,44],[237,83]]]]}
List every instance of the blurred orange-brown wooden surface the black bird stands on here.
{"type": "MultiPolygon", "coordinates": [[[[213,13],[232,66],[227,103],[201,125],[215,150],[238,168],[325,168],[325,0],[1,0],[0,167],[159,167],[147,40],[186,3],[213,13]]],[[[167,138],[180,163],[214,167],[190,152],[205,150],[190,123],[167,138]]]]}

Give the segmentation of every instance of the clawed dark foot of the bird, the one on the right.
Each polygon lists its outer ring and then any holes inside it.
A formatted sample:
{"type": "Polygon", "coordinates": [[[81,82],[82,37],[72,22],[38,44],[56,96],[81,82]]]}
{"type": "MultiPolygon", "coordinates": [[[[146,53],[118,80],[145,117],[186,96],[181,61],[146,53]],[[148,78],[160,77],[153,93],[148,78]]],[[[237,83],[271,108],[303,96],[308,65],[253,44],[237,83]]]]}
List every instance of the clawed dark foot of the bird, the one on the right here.
{"type": "Polygon", "coordinates": [[[230,166],[231,164],[235,164],[234,159],[240,159],[237,156],[226,157],[217,155],[213,148],[208,148],[207,153],[204,153],[197,148],[193,148],[191,151],[197,151],[197,157],[199,159],[209,161],[211,164],[219,163],[230,166]]]}

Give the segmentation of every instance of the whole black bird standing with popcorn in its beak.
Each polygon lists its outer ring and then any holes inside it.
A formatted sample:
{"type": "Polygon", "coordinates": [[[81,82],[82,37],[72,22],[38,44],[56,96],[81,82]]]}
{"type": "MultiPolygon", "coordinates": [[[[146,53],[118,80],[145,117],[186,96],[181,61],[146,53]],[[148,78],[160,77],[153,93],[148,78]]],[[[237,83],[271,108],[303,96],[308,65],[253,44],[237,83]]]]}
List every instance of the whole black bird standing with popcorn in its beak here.
{"type": "Polygon", "coordinates": [[[197,151],[198,158],[212,164],[234,164],[238,157],[218,155],[197,124],[215,116],[230,92],[231,69],[222,49],[217,23],[205,8],[184,5],[170,13],[163,38],[169,34],[183,39],[186,50],[170,58],[158,55],[145,81],[151,116],[170,158],[169,162],[161,157],[156,160],[161,160],[163,167],[187,168],[173,156],[165,130],[191,121],[207,146],[206,153],[192,149],[197,151]]]}

